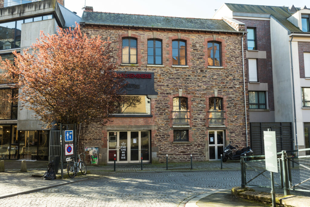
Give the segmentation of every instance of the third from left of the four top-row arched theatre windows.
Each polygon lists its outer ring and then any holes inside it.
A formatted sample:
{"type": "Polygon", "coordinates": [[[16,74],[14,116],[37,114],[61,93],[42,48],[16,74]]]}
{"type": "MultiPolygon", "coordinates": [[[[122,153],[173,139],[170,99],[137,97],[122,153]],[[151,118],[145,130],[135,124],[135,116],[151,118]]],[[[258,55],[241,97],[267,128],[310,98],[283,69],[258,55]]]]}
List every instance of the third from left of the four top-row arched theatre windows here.
{"type": "Polygon", "coordinates": [[[186,65],[186,42],[172,41],[172,65],[186,65]]]}

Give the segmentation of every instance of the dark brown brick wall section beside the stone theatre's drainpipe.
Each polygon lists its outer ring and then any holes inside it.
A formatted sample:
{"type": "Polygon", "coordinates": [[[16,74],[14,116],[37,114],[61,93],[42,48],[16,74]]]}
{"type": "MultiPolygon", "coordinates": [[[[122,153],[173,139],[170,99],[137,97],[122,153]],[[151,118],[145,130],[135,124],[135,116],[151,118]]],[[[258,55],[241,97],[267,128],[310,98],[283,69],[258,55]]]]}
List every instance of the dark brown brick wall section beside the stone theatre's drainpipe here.
{"type": "MultiPolygon", "coordinates": [[[[266,51],[266,59],[257,59],[258,81],[260,83],[268,83],[268,106],[270,111],[274,111],[270,21],[250,19],[236,20],[245,23],[246,27],[256,28],[257,50],[266,51]]],[[[245,44],[247,48],[247,41],[245,41],[245,44]]],[[[247,59],[245,61],[245,66],[247,71],[249,71],[247,59]]]]}

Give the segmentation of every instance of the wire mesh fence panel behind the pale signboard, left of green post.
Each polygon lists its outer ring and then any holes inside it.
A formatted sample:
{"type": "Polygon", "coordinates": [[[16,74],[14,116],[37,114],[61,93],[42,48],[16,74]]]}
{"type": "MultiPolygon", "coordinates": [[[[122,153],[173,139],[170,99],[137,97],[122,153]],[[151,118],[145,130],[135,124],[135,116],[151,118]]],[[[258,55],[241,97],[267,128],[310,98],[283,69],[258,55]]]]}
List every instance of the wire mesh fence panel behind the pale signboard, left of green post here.
{"type": "MultiPolygon", "coordinates": [[[[261,158],[264,158],[262,156],[261,158]]],[[[245,160],[245,181],[247,186],[259,186],[271,188],[270,172],[266,170],[265,159],[245,160]]],[[[281,176],[281,161],[278,159],[278,173],[273,174],[275,188],[283,187],[283,179],[281,176]]]]}

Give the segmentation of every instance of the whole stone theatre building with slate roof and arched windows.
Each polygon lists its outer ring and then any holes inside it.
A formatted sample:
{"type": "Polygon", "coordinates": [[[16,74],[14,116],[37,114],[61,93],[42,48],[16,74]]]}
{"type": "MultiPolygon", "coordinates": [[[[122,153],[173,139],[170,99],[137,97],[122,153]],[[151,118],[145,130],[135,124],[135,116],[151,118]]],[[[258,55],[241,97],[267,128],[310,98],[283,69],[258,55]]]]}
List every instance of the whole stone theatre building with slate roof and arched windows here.
{"type": "Polygon", "coordinates": [[[113,163],[114,154],[118,163],[140,162],[140,154],[145,162],[164,162],[166,154],[174,162],[190,154],[216,160],[229,141],[248,144],[243,23],[86,7],[80,24],[90,37],[110,37],[127,95],[141,99],[136,108],[123,104],[106,126],[88,127],[82,147],[98,147],[100,164],[113,163]]]}

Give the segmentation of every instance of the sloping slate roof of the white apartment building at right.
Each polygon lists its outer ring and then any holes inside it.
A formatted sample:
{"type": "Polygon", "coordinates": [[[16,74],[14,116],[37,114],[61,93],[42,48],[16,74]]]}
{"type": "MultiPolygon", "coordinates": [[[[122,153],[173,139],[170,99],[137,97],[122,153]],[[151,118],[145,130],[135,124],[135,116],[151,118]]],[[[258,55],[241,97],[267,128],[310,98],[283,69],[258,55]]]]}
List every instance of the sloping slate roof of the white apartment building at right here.
{"type": "MultiPolygon", "coordinates": [[[[232,12],[270,14],[291,32],[303,32],[286,19],[293,14],[288,11],[288,7],[232,4],[232,3],[225,3],[225,4],[232,12]]],[[[299,8],[296,9],[299,10],[299,8]]]]}

